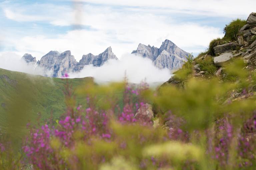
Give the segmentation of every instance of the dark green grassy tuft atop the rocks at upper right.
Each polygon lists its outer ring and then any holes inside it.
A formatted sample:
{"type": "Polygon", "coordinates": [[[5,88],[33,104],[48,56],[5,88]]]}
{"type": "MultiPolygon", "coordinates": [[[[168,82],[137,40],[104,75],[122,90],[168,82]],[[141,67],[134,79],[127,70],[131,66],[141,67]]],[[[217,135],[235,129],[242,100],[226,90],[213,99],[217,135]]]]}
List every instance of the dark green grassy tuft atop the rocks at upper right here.
{"type": "Polygon", "coordinates": [[[224,38],[230,41],[236,41],[239,30],[246,24],[245,20],[236,19],[231,21],[224,28],[225,36],[224,38]]]}

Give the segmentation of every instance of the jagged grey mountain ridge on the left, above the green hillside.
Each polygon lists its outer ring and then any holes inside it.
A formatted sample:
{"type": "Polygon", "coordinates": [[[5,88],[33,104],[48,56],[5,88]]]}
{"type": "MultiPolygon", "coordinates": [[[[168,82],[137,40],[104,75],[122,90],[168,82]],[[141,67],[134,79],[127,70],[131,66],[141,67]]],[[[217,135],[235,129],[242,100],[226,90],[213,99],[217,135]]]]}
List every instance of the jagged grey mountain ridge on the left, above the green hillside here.
{"type": "Polygon", "coordinates": [[[83,69],[85,65],[92,64],[93,66],[102,66],[109,59],[116,59],[116,55],[112,52],[112,48],[108,47],[104,52],[99,55],[92,53],[83,55],[82,59],[77,62],[75,57],[71,55],[71,51],[50,51],[44,55],[40,61],[36,62],[36,57],[31,54],[24,54],[24,59],[28,64],[36,64],[39,68],[43,69],[45,76],[62,77],[65,73],[77,72],[83,69]]]}

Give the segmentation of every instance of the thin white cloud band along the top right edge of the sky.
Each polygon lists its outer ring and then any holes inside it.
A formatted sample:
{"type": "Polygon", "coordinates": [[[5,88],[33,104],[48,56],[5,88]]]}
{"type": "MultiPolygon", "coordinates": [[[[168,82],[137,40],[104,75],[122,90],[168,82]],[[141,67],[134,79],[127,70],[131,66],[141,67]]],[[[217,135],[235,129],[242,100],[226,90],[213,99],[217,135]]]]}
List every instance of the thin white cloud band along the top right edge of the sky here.
{"type": "Polygon", "coordinates": [[[170,12],[222,16],[246,17],[255,12],[255,0],[74,0],[75,2],[89,2],[94,4],[106,4],[129,7],[164,8],[170,12]]]}

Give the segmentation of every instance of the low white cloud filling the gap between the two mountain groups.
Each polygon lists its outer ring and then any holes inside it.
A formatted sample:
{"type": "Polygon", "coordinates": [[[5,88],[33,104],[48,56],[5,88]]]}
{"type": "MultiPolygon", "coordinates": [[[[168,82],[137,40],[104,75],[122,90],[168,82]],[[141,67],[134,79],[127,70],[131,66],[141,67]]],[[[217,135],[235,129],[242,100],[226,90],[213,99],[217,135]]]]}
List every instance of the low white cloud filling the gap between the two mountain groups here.
{"type": "Polygon", "coordinates": [[[70,78],[94,77],[97,83],[110,81],[123,81],[124,77],[129,82],[147,83],[165,82],[171,77],[168,69],[156,68],[148,58],[125,54],[121,60],[109,60],[101,67],[85,66],[80,72],[70,74],[70,78]]]}

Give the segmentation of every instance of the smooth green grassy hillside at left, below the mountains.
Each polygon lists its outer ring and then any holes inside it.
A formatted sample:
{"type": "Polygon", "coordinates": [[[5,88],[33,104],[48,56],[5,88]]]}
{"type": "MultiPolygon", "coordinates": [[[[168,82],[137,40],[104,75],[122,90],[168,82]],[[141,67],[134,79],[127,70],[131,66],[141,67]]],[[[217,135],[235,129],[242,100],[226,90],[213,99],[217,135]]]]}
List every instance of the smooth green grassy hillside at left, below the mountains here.
{"type": "MultiPolygon", "coordinates": [[[[74,89],[91,81],[91,77],[69,79],[74,89]]],[[[66,80],[61,78],[30,75],[0,68],[0,133],[9,130],[10,133],[16,133],[16,130],[20,130],[17,127],[23,129],[27,120],[35,121],[41,117],[44,121],[51,113],[54,119],[58,118],[65,111],[65,83],[66,80]]],[[[82,100],[84,98],[81,96],[77,99],[82,100]]]]}

